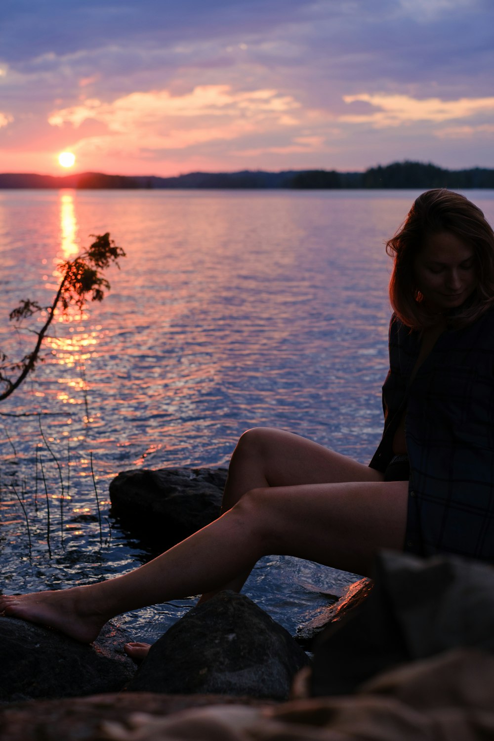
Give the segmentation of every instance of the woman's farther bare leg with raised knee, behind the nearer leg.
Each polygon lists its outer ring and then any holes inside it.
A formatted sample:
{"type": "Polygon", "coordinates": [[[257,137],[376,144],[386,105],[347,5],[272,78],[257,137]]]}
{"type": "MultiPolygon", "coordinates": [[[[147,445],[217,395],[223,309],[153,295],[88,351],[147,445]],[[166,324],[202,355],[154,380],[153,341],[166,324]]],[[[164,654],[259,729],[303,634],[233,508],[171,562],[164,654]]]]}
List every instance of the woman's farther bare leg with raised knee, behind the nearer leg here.
{"type": "MultiPolygon", "coordinates": [[[[256,488],[380,480],[378,471],[317,442],[276,428],[253,428],[241,436],[233,451],[221,514],[256,488]]],[[[253,566],[221,589],[240,591],[253,566]]],[[[203,594],[199,602],[213,594],[203,594]]]]}

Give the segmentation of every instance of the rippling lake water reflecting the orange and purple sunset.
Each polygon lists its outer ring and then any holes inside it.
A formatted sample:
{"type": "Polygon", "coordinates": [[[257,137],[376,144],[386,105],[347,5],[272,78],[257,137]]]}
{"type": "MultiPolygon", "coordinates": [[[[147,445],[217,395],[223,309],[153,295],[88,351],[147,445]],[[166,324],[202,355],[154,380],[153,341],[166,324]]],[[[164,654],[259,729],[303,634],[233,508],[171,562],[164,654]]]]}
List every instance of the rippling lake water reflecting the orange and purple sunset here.
{"type": "MultiPolygon", "coordinates": [[[[0,190],[0,349],[13,359],[33,334],[8,313],[20,299],[50,303],[59,259],[107,231],[127,253],[104,302],[59,316],[45,362],[1,404],[4,593],[106,579],[147,558],[108,513],[119,471],[227,465],[256,425],[367,463],[387,373],[384,241],[417,195],[0,190]]],[[[493,223],[494,191],[466,195],[493,223]]],[[[245,591],[293,631],[321,592],[353,579],[273,556],[245,591]]],[[[191,604],[119,622],[154,640],[191,604]]]]}

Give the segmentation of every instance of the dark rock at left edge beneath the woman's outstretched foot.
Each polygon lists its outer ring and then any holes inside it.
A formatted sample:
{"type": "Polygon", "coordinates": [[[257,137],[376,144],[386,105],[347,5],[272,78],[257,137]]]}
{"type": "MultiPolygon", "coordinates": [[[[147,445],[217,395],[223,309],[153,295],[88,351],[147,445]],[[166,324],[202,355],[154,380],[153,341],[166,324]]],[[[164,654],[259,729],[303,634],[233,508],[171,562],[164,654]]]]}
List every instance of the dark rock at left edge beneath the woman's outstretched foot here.
{"type": "Polygon", "coordinates": [[[83,645],[50,628],[0,617],[0,701],[119,691],[136,671],[123,652],[128,639],[107,624],[93,645],[83,645]]]}

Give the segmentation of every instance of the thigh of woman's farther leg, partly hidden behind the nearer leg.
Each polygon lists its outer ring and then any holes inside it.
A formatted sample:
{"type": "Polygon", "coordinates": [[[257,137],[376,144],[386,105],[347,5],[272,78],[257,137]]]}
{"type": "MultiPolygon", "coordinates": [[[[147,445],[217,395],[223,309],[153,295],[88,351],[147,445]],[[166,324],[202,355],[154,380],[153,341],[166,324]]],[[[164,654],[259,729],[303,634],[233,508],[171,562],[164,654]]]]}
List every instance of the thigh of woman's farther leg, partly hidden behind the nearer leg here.
{"type": "Polygon", "coordinates": [[[273,487],[382,480],[379,471],[363,463],[275,428],[253,428],[244,433],[233,454],[230,473],[236,458],[239,468],[261,472],[273,487]]]}

